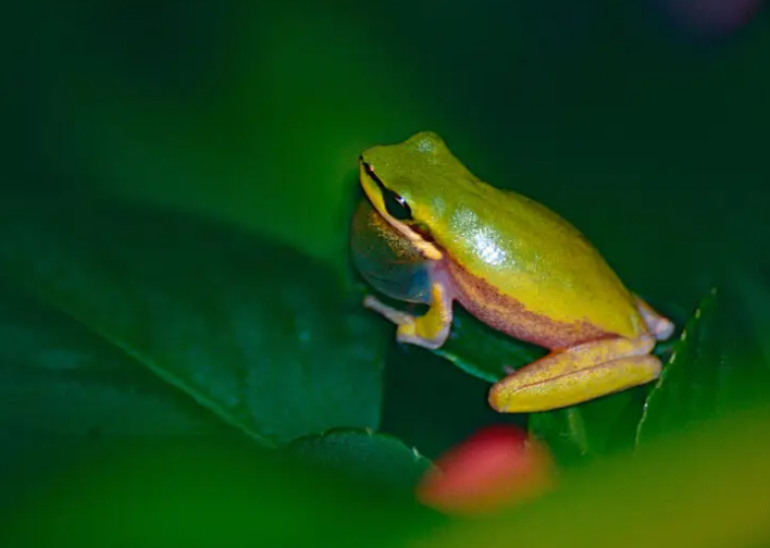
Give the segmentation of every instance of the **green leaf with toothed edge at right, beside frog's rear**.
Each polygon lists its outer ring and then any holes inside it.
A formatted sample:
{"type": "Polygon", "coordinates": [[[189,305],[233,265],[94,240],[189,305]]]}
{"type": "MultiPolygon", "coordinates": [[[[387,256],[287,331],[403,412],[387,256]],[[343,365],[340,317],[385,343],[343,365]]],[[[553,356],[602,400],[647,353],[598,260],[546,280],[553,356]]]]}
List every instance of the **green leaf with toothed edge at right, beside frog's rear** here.
{"type": "Polygon", "coordinates": [[[647,396],[637,444],[770,397],[770,369],[745,304],[734,289],[700,300],[647,396]]]}

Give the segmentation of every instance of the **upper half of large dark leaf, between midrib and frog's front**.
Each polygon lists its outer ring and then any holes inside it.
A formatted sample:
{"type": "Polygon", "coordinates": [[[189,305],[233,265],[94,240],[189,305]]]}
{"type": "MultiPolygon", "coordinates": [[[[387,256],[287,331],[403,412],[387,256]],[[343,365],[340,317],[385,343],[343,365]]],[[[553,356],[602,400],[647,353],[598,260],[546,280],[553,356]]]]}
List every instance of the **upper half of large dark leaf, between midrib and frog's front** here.
{"type": "Polygon", "coordinates": [[[377,426],[385,334],[319,263],[99,198],[3,200],[0,232],[4,272],[259,443],[377,426]]]}

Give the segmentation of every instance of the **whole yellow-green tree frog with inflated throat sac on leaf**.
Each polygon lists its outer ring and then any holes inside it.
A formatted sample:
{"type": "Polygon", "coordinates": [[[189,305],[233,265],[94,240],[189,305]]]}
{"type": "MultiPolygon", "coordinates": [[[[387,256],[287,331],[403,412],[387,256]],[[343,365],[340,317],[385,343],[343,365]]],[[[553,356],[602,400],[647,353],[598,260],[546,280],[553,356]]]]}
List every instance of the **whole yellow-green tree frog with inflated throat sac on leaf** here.
{"type": "Polygon", "coordinates": [[[631,292],[570,223],[476,178],[436,134],[375,146],[359,161],[367,199],[351,227],[356,266],[382,294],[429,306],[412,315],[369,296],[401,342],[446,341],[452,303],[549,350],[493,385],[499,412],[557,409],[648,383],[671,321],[631,292]]]}

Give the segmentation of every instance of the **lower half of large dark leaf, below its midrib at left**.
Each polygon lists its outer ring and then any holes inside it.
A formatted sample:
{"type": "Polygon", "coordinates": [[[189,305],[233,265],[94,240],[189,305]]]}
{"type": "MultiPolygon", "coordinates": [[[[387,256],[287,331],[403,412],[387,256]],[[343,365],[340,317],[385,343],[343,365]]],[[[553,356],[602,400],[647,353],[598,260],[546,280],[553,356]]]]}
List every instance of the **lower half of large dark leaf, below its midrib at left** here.
{"type": "Polygon", "coordinates": [[[195,400],[72,317],[2,283],[0,401],[7,441],[227,432],[195,400]]]}

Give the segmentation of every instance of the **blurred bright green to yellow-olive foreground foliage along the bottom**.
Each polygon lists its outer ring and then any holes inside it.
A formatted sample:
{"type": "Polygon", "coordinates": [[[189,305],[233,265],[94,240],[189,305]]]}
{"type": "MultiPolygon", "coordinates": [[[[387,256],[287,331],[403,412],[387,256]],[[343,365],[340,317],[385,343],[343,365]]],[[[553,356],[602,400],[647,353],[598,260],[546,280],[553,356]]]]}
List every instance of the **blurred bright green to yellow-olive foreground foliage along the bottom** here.
{"type": "Polygon", "coordinates": [[[23,500],[3,546],[767,546],[767,408],[568,471],[558,491],[447,520],[237,444],[114,444],[23,500]],[[28,544],[25,544],[28,543],[28,544]]]}

